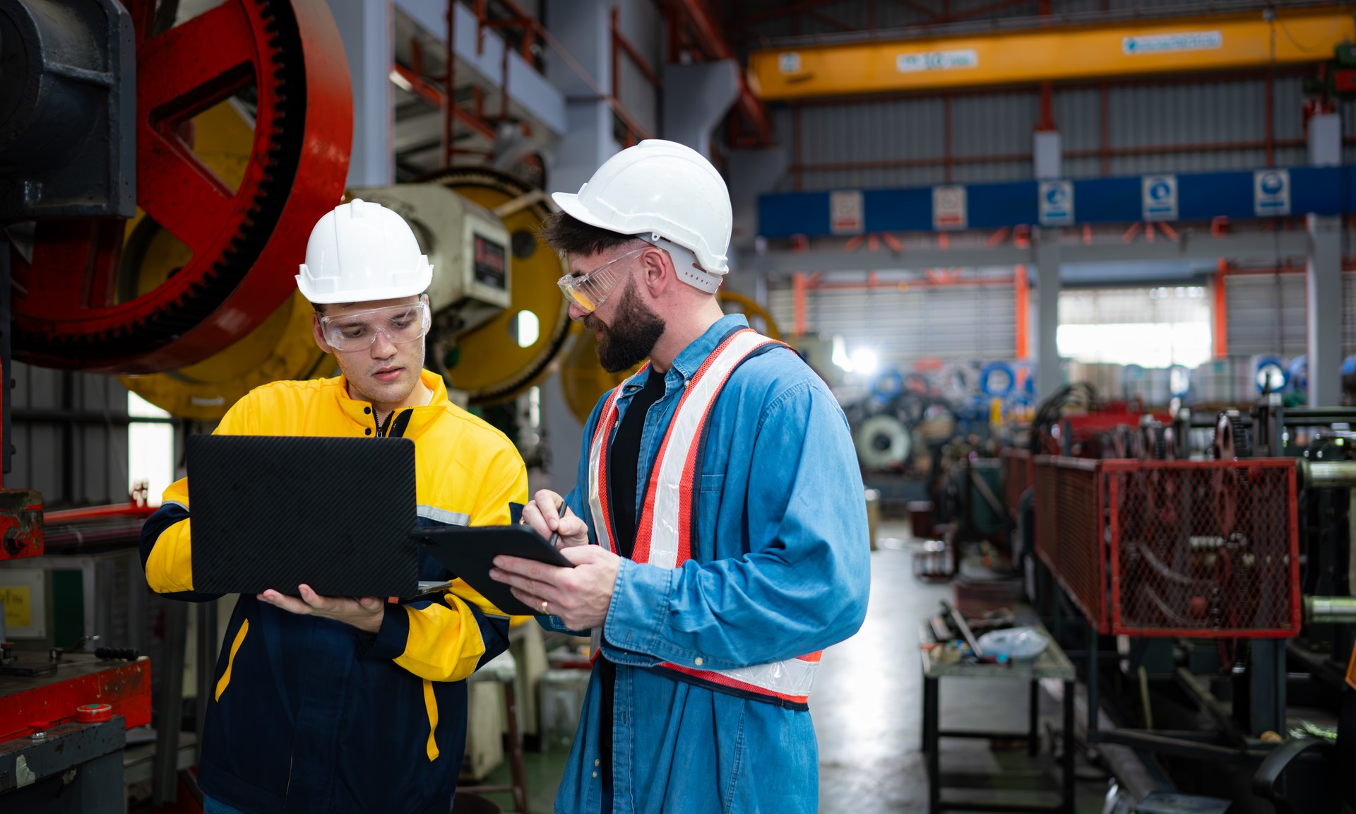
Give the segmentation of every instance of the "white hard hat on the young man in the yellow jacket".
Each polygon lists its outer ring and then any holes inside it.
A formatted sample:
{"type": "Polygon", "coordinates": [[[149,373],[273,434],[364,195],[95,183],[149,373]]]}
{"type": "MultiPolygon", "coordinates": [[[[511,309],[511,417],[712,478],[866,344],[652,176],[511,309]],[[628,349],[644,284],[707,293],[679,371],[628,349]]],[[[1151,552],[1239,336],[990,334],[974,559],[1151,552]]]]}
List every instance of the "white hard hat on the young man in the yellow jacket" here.
{"type": "Polygon", "coordinates": [[[301,296],[312,303],[411,297],[431,281],[433,266],[405,218],[359,198],[320,217],[297,274],[301,296]]]}

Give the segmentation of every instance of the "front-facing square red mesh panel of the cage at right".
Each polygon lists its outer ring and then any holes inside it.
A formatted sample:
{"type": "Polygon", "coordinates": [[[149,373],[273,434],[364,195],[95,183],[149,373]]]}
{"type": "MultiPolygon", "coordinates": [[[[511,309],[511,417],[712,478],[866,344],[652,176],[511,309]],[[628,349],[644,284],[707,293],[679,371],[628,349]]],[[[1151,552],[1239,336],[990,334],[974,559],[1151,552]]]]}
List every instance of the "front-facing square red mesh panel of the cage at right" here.
{"type": "Polygon", "coordinates": [[[1111,627],[1138,636],[1294,636],[1295,463],[1101,461],[1111,627]]]}

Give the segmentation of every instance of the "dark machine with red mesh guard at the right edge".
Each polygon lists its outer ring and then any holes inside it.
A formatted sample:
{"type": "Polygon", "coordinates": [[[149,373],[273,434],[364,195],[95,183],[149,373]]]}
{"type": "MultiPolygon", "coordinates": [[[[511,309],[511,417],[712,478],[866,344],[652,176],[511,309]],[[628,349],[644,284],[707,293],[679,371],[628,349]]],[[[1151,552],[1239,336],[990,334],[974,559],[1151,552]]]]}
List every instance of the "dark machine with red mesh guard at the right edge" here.
{"type": "Polygon", "coordinates": [[[1356,410],[1268,393],[1136,422],[1078,389],[1003,472],[1026,593],[1081,661],[1089,748],[1230,811],[1337,811],[1356,750],[1356,410]]]}

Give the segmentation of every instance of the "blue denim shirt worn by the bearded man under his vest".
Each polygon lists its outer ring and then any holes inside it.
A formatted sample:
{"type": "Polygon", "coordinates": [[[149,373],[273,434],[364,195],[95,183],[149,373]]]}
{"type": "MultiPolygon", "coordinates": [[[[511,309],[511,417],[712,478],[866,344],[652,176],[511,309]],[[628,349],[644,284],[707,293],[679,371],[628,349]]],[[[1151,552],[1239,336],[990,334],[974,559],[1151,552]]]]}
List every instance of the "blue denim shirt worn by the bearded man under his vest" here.
{"type": "MultiPolygon", "coordinates": [[[[744,326],[743,316],[725,316],[664,374],[664,395],[640,438],[637,507],[685,383],[744,326]]],[[[640,388],[624,385],[622,415],[640,388]]],[[[590,529],[589,444],[599,408],[584,427],[578,482],[565,498],[590,529]]],[[[819,754],[810,712],[645,669],[782,661],[861,627],[871,583],[861,473],[842,410],[795,353],[763,353],[730,379],[713,411],[700,488],[693,559],[678,568],[622,560],[617,573],[602,646],[617,665],[613,811],[814,811],[819,754]]],[[[590,540],[597,544],[593,530],[590,540]]],[[[548,625],[564,629],[559,617],[548,625]]],[[[601,701],[594,672],[556,811],[602,810],[601,701]]]]}

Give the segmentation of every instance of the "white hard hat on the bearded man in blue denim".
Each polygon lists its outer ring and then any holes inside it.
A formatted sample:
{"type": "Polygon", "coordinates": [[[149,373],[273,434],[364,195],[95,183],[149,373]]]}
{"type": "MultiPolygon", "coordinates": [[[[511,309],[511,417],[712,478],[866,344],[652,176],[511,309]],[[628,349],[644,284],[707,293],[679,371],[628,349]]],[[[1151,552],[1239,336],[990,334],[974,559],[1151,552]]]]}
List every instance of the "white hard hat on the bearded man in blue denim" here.
{"type": "Polygon", "coordinates": [[[591,227],[651,243],[664,239],[692,251],[700,270],[678,256],[674,266],[702,290],[715,292],[730,271],[730,190],[711,161],[689,147],[648,138],[607,159],[579,194],[551,197],[591,227]]]}

